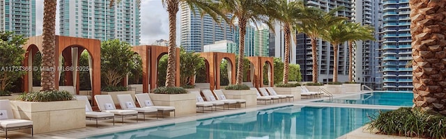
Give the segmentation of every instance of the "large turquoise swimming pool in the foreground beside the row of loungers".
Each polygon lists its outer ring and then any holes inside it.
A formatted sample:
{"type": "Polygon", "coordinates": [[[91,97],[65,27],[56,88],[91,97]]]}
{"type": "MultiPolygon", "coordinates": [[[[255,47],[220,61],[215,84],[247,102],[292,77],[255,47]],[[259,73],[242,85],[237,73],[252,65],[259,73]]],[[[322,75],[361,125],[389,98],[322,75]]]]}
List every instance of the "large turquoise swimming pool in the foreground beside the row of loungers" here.
{"type": "Polygon", "coordinates": [[[285,106],[89,138],[338,138],[376,109],[285,106]]]}

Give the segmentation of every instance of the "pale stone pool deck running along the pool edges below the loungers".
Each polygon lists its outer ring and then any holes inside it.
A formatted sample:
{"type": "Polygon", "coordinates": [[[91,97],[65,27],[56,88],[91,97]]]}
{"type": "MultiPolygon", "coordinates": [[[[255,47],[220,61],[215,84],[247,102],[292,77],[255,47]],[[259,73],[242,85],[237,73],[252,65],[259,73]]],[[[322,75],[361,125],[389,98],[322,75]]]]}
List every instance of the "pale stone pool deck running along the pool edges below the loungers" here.
{"type": "MultiPolygon", "coordinates": [[[[366,93],[366,92],[362,92],[366,93]]],[[[361,93],[347,93],[343,95],[335,95],[333,98],[337,97],[348,97],[352,95],[358,95],[361,93]]],[[[134,129],[148,128],[153,126],[160,126],[165,124],[175,124],[179,122],[187,122],[192,120],[201,120],[210,117],[219,117],[223,115],[233,115],[237,113],[245,113],[246,111],[257,111],[261,109],[275,108],[279,106],[289,106],[289,105],[297,105],[297,106],[328,106],[328,107],[344,107],[344,108],[373,108],[373,109],[397,109],[399,106],[371,106],[371,105],[358,105],[358,104],[330,104],[330,103],[317,103],[312,101],[317,101],[321,99],[328,99],[328,97],[318,98],[318,99],[302,99],[300,101],[293,102],[284,102],[284,103],[276,103],[276,104],[267,104],[263,105],[259,103],[257,106],[247,107],[247,108],[237,108],[223,111],[219,109],[219,111],[206,111],[205,113],[194,113],[190,115],[183,115],[177,117],[164,117],[156,120],[155,116],[146,117],[146,122],[136,122],[136,118],[127,117],[125,118],[125,123],[121,124],[121,118],[116,118],[115,126],[112,124],[112,120],[104,120],[98,122],[98,128],[95,127],[95,121],[86,120],[86,128],[84,129],[74,129],[69,131],[59,131],[53,133],[43,133],[36,134],[34,138],[86,138],[89,136],[98,136],[107,133],[116,133],[120,131],[130,131],[134,129]]],[[[152,115],[151,115],[152,116],[152,115]]],[[[62,124],[62,123],[61,123],[62,124]]],[[[8,133],[8,137],[10,138],[31,138],[31,135],[25,133],[18,133],[15,131],[10,131],[8,133]]],[[[0,133],[0,138],[4,138],[3,132],[0,133]]],[[[407,137],[399,137],[399,136],[386,136],[386,135],[377,135],[374,133],[369,133],[368,131],[364,131],[361,128],[355,129],[350,133],[347,133],[344,136],[339,138],[407,138],[407,137]]]]}

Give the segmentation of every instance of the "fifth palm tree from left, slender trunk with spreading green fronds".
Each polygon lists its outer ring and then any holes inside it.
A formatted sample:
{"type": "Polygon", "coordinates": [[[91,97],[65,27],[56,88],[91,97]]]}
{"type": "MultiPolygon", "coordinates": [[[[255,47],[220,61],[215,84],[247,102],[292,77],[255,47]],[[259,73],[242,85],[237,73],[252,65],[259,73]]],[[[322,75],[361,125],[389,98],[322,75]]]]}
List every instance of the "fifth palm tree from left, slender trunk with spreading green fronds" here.
{"type": "Polygon", "coordinates": [[[335,17],[334,13],[341,10],[341,7],[334,8],[326,13],[323,10],[319,10],[312,7],[307,7],[302,10],[302,14],[305,17],[300,21],[299,24],[296,24],[296,28],[298,31],[305,33],[311,40],[312,43],[312,57],[313,57],[313,83],[318,82],[318,63],[317,63],[317,46],[316,41],[320,37],[321,33],[325,31],[325,28],[328,28],[331,24],[340,22],[345,20],[345,17],[335,17]]]}

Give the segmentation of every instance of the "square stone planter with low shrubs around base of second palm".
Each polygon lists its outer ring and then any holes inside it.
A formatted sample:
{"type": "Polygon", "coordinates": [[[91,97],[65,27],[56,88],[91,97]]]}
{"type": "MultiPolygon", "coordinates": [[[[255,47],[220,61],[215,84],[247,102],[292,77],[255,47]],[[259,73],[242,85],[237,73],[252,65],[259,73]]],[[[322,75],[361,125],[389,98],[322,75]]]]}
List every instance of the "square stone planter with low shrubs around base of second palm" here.
{"type": "Polygon", "coordinates": [[[197,113],[197,97],[181,87],[159,87],[148,94],[156,106],[174,106],[176,115],[197,113]]]}

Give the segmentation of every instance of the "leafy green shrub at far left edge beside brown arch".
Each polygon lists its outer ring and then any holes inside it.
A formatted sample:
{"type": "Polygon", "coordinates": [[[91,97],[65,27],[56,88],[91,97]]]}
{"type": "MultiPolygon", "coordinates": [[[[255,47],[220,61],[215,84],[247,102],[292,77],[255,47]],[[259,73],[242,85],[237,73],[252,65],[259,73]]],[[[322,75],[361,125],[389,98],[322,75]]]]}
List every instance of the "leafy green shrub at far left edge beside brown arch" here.
{"type": "Polygon", "coordinates": [[[25,51],[20,45],[27,39],[22,35],[15,35],[12,31],[2,31],[0,40],[0,99],[13,100],[17,95],[12,95],[9,89],[26,71],[32,70],[22,67],[25,51]]]}

